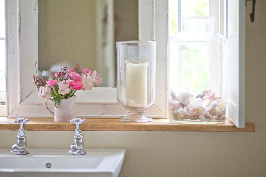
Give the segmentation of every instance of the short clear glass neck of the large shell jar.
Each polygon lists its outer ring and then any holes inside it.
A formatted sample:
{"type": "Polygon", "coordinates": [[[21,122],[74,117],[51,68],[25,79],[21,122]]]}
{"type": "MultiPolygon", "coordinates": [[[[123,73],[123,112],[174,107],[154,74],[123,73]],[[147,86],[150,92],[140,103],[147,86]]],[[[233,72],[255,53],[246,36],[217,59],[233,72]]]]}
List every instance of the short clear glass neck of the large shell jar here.
{"type": "Polygon", "coordinates": [[[182,31],[185,32],[214,32],[213,16],[182,17],[182,31]]]}

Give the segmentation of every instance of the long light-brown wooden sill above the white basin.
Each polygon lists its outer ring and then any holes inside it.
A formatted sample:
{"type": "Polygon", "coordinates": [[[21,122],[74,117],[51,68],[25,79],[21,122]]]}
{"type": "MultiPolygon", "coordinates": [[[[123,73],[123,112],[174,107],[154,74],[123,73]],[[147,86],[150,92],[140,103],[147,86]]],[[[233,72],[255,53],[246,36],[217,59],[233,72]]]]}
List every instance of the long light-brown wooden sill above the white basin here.
{"type": "MultiPolygon", "coordinates": [[[[18,130],[13,118],[0,117],[0,130],[18,130]]],[[[74,131],[76,126],[70,123],[54,122],[51,118],[32,118],[23,125],[30,131],[74,131]]],[[[237,128],[230,120],[225,123],[211,125],[174,124],[168,119],[154,119],[146,123],[122,123],[119,119],[88,118],[81,124],[82,131],[188,131],[188,132],[255,132],[254,124],[246,124],[245,128],[237,128]]]]}

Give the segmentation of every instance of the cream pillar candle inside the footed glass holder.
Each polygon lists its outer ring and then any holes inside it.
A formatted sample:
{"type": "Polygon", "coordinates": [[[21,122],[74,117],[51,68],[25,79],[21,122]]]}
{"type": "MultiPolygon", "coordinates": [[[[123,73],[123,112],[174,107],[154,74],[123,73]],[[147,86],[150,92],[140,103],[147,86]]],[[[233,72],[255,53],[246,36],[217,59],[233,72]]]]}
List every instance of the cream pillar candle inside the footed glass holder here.
{"type": "Polygon", "coordinates": [[[126,63],[126,105],[131,107],[147,106],[147,66],[145,63],[126,63]]]}

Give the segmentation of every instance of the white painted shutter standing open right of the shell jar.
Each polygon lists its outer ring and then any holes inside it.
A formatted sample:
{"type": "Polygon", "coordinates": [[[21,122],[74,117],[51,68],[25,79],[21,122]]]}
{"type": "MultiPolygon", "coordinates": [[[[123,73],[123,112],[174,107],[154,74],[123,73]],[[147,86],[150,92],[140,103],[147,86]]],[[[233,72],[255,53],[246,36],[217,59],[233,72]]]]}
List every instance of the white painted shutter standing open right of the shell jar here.
{"type": "Polygon", "coordinates": [[[245,2],[227,2],[229,42],[227,117],[245,127],[245,2]]]}

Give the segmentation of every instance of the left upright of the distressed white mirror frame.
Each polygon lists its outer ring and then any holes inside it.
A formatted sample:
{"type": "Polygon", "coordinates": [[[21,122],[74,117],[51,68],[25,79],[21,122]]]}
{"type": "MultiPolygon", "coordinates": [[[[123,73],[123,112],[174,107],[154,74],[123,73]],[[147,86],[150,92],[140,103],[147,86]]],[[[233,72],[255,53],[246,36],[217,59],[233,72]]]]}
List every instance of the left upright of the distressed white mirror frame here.
{"type": "Polygon", "coordinates": [[[32,76],[38,72],[37,0],[6,3],[6,116],[33,90],[32,76]]]}

